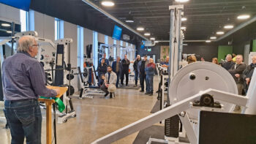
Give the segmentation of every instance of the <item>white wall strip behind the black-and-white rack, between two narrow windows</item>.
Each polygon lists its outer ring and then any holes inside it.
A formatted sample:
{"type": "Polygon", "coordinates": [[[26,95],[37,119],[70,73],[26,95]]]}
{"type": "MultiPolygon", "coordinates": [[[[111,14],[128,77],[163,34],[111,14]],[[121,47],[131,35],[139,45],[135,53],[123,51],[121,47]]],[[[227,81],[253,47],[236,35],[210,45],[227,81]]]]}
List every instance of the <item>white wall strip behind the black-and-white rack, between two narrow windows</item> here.
{"type": "MultiPolygon", "coordinates": [[[[70,45],[70,63],[71,67],[78,67],[78,26],[64,21],[64,38],[73,39],[70,45]]],[[[66,61],[67,63],[68,61],[66,61]]],[[[71,80],[71,85],[74,86],[75,91],[78,91],[78,75],[75,75],[75,78],[71,80]]]]}

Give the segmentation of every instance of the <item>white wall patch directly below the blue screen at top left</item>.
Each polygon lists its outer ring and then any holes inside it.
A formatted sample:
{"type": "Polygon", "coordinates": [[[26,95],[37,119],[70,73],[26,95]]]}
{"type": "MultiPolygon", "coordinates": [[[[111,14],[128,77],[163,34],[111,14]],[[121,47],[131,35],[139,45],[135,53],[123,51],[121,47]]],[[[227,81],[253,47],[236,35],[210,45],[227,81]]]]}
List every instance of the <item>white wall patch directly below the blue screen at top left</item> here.
{"type": "Polygon", "coordinates": [[[20,24],[20,10],[5,4],[0,4],[0,19],[20,24]]]}

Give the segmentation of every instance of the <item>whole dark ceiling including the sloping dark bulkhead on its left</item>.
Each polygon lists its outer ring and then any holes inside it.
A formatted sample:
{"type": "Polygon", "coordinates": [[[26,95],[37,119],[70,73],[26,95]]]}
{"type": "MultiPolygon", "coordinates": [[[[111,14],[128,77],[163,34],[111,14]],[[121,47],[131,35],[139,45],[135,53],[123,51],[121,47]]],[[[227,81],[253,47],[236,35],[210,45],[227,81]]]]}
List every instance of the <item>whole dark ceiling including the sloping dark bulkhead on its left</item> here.
{"type": "MultiPolygon", "coordinates": [[[[169,39],[170,11],[168,7],[178,4],[174,0],[113,0],[115,6],[107,8],[102,7],[99,0],[90,1],[123,23],[130,13],[135,23],[126,24],[135,30],[138,26],[143,26],[151,33],[151,37],[156,37],[157,40],[169,39]]],[[[184,17],[187,21],[182,22],[182,26],[187,27],[184,31],[185,39],[208,39],[216,35],[219,30],[227,32],[223,29],[225,24],[238,26],[246,21],[236,18],[242,12],[241,7],[246,7],[244,12],[249,13],[251,17],[256,15],[256,0],[190,0],[184,4],[184,17]]],[[[110,37],[113,26],[121,26],[82,0],[31,0],[31,9],[110,37]]],[[[121,27],[123,34],[131,37],[129,42],[136,44],[141,40],[137,34],[124,26],[121,27]]]]}

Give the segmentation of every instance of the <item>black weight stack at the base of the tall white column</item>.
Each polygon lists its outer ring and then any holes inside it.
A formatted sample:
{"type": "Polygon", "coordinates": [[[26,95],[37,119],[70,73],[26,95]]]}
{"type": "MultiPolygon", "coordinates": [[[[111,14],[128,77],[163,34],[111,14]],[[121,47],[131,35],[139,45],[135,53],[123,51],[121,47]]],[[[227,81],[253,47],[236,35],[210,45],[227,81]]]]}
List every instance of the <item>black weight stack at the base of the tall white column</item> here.
{"type": "Polygon", "coordinates": [[[165,136],[166,137],[178,137],[179,131],[179,117],[175,115],[171,118],[165,119],[165,136]]]}

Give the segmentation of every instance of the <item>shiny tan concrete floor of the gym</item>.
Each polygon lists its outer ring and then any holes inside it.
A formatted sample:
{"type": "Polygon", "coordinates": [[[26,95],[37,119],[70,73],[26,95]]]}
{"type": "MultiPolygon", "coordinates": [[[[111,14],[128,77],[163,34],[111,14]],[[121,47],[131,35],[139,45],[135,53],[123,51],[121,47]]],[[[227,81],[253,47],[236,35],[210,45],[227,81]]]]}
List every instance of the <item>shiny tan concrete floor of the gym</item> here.
{"type": "MultiPolygon", "coordinates": [[[[158,80],[155,77],[154,90],[157,91],[158,80]]],[[[139,90],[118,88],[116,98],[106,99],[94,96],[94,99],[73,98],[77,113],[65,124],[57,124],[57,143],[86,144],[120,129],[127,124],[150,115],[151,108],[157,101],[157,94],[146,96],[139,90]]],[[[0,112],[2,113],[2,112],[0,112]]],[[[45,143],[45,110],[42,110],[42,143],[45,143]]],[[[0,143],[9,144],[10,130],[2,129],[5,121],[0,119],[0,143]]],[[[116,144],[132,143],[138,132],[118,140],[116,144]]]]}

